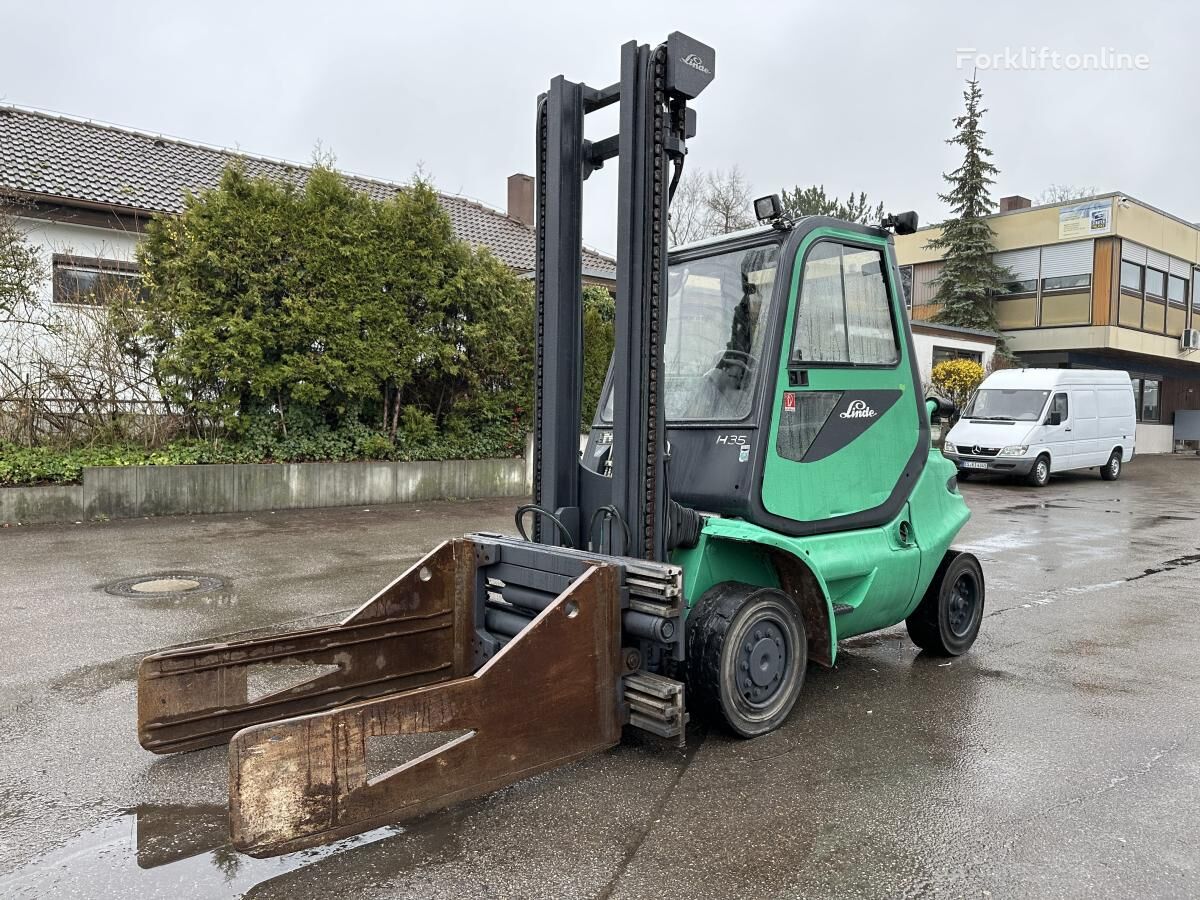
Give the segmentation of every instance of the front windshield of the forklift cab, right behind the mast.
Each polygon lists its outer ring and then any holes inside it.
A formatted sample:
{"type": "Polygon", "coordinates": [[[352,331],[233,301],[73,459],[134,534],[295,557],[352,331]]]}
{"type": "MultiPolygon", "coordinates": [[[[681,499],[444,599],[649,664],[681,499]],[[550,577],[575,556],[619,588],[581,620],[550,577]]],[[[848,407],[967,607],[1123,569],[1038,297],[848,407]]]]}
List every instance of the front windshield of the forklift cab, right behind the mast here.
{"type": "MultiPolygon", "coordinates": [[[[667,270],[667,420],[731,421],[749,414],[778,262],[779,245],[773,244],[667,270]]],[[[601,415],[612,421],[612,391],[601,415]]]]}

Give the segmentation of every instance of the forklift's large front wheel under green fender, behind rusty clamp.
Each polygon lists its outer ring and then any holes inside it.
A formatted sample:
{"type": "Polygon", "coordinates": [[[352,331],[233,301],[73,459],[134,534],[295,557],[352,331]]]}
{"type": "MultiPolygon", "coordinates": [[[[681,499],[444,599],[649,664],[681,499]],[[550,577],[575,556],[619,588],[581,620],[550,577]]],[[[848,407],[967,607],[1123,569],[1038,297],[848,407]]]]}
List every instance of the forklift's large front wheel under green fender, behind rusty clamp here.
{"type": "Polygon", "coordinates": [[[739,737],[784,724],[808,661],[804,619],[782,590],[725,581],[688,617],[688,706],[739,737]]]}

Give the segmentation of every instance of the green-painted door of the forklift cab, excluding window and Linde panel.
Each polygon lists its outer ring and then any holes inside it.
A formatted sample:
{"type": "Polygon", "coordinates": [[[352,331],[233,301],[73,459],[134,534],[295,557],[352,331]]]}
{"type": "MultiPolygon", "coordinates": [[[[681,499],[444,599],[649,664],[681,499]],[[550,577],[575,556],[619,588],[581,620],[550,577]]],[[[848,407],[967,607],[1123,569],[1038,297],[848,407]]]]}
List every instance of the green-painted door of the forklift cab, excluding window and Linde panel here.
{"type": "Polygon", "coordinates": [[[922,398],[914,395],[908,342],[900,341],[899,360],[886,368],[817,366],[808,368],[806,386],[790,386],[787,362],[792,352],[796,307],[803,281],[804,257],[818,240],[846,240],[858,246],[877,247],[888,259],[892,317],[896,334],[904,334],[904,311],[896,302],[899,286],[888,253],[888,241],[857,232],[820,228],[805,236],[796,254],[787,293],[787,319],[776,367],[775,403],[770,418],[767,461],[763,472],[762,504],[776,516],[817,522],[834,516],[862,512],[887,500],[917,449],[917,416],[924,415],[922,398]],[[776,452],[779,419],[785,391],[899,390],[900,398],[871,424],[868,434],[838,452],[816,462],[796,462],[776,452]]]}

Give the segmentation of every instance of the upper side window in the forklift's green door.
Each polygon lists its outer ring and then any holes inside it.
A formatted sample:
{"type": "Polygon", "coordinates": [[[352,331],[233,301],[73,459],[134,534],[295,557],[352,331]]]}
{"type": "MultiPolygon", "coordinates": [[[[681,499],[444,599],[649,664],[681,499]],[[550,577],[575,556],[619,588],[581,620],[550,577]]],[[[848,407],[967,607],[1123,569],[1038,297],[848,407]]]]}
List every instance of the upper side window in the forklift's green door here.
{"type": "Polygon", "coordinates": [[[878,250],[818,241],[804,260],[792,338],[794,365],[900,361],[878,250]]]}

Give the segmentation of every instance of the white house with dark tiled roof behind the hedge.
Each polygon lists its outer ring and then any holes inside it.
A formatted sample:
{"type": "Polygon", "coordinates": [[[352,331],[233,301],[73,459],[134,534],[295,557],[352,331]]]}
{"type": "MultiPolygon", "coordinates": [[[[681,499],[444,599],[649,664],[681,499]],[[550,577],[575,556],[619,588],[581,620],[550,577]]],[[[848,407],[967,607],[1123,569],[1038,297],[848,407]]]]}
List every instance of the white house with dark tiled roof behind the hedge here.
{"type": "MultiPolygon", "coordinates": [[[[311,174],[310,167],[282,160],[0,104],[0,204],[14,210],[47,272],[35,308],[0,323],[0,413],[10,414],[0,415],[0,439],[6,437],[4,422],[14,421],[13,409],[19,413],[30,400],[62,421],[89,398],[110,400],[130,413],[163,407],[149,371],[130,360],[114,371],[97,362],[106,354],[90,343],[88,331],[98,313],[95,298],[114,283],[138,290],[137,247],[146,223],[182,211],[188,192],[216,187],[233,162],[251,175],[295,185],[311,174]],[[54,329],[41,326],[52,320],[54,329]]],[[[376,199],[404,187],[343,178],[376,199]]],[[[439,193],[438,199],[461,240],[486,247],[522,276],[533,271],[530,176],[509,179],[505,211],[454,194],[439,193]]],[[[613,289],[616,262],[584,248],[582,275],[613,289]]],[[[56,422],[50,430],[60,427],[56,422]]],[[[30,424],[28,431],[38,427],[30,424]]]]}

